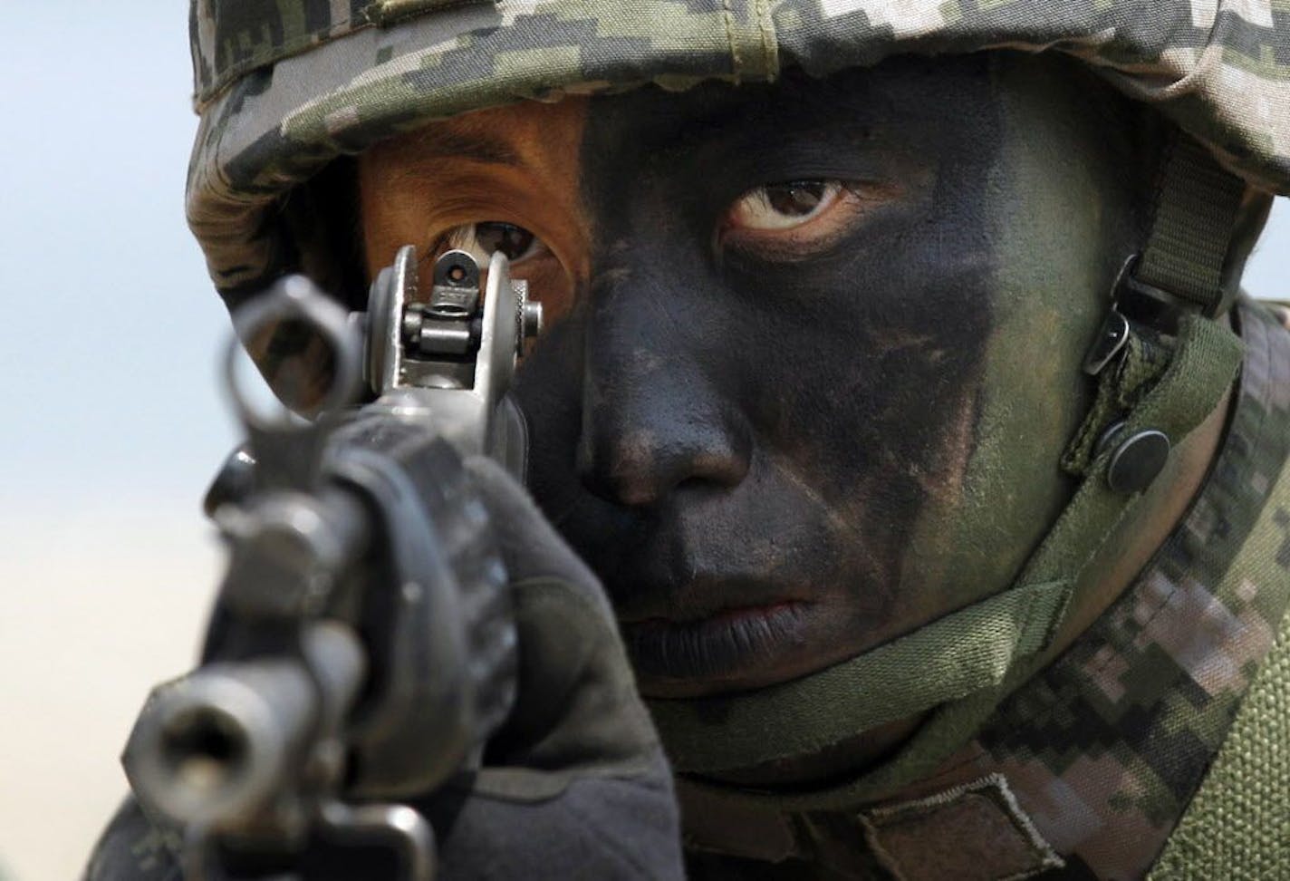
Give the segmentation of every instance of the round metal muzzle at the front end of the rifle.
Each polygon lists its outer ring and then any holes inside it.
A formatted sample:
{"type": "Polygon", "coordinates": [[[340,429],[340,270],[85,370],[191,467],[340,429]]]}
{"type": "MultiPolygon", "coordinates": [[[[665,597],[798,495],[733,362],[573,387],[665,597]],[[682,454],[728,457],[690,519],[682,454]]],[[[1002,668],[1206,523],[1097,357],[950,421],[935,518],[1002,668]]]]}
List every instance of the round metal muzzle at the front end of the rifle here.
{"type": "Polygon", "coordinates": [[[154,689],[121,762],[146,810],[224,831],[297,779],[319,695],[294,659],[217,663],[154,689]]]}

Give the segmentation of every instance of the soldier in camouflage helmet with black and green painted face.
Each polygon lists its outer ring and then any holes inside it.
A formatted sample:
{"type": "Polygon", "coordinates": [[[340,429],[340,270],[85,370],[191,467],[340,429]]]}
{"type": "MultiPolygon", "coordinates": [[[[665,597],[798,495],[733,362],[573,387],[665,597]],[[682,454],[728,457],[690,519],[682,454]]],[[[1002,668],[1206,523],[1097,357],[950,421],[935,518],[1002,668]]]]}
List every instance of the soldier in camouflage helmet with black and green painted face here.
{"type": "MultiPolygon", "coordinates": [[[[1290,13],[199,0],[192,37],[231,307],[360,307],[412,243],[553,319],[542,515],[476,476],[562,599],[520,589],[495,767],[418,805],[448,877],[680,877],[676,804],[691,877],[1290,876],[1290,337],[1237,293],[1290,13]]],[[[173,867],[128,806],[89,875],[173,867]]]]}

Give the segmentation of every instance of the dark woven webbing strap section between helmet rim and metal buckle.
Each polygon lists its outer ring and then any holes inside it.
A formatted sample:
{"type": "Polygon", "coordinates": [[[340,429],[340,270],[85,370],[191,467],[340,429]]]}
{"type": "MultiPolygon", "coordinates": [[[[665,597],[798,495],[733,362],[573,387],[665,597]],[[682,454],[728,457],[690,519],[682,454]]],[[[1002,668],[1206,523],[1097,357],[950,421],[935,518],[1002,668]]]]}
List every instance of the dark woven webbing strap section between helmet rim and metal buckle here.
{"type": "Polygon", "coordinates": [[[1223,262],[1245,182],[1224,170],[1195,138],[1179,133],[1156,195],[1151,239],[1136,280],[1214,316],[1223,303],[1223,262]]]}

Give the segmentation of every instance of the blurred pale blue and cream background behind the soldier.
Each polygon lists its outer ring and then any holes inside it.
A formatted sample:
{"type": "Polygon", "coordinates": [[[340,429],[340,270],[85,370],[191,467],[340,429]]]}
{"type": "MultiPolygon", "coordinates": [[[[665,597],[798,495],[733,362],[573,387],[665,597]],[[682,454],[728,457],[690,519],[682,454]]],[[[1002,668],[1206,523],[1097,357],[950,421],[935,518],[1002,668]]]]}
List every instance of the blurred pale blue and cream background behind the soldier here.
{"type": "MultiPolygon", "coordinates": [[[[0,83],[0,866],[39,881],[77,873],[147,688],[191,662],[236,432],[183,222],[187,4],[23,4],[0,83]]],[[[1247,285],[1290,297],[1285,200],[1247,285]]]]}

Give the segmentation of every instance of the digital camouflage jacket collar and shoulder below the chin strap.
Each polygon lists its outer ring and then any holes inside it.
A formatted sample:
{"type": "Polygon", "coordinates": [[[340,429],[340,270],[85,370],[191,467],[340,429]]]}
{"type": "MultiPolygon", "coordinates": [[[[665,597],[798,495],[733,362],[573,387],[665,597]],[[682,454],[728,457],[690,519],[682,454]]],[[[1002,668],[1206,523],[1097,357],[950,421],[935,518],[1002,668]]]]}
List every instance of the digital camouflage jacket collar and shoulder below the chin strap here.
{"type": "MultiPolygon", "coordinates": [[[[827,877],[907,881],[944,877],[947,864],[965,878],[1138,878],[1152,868],[1290,605],[1290,334],[1262,306],[1244,303],[1240,317],[1246,357],[1231,430],[1192,510],[1133,586],[935,774],[859,811],[782,815],[795,856],[737,859],[740,877],[815,877],[801,860],[836,873],[827,877]],[[935,871],[920,871],[929,854],[935,871]]],[[[1290,715],[1262,722],[1264,739],[1290,743],[1290,715]]],[[[768,824],[762,841],[775,832],[768,824]]],[[[1152,877],[1284,877],[1290,838],[1254,832],[1259,853],[1186,854],[1152,877]],[[1249,872],[1275,860],[1276,872],[1249,872]],[[1213,872],[1179,872],[1179,862],[1213,872]]],[[[1215,835],[1233,837],[1222,827],[1197,837],[1215,835]]],[[[690,866],[695,881],[730,871],[728,856],[690,866]]]]}

